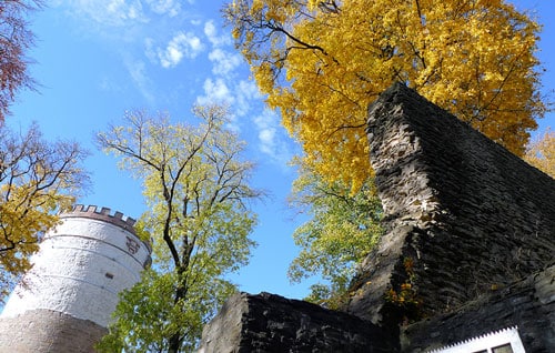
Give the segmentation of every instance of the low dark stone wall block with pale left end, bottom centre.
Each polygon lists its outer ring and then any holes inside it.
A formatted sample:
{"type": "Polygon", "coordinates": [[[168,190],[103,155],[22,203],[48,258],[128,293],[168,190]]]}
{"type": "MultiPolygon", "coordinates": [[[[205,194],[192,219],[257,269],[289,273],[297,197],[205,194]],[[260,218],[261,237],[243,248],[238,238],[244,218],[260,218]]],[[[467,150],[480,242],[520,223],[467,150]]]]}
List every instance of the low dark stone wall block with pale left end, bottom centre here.
{"type": "Polygon", "coordinates": [[[238,293],[202,333],[199,353],[394,352],[384,332],[356,316],[275,294],[238,293]]]}

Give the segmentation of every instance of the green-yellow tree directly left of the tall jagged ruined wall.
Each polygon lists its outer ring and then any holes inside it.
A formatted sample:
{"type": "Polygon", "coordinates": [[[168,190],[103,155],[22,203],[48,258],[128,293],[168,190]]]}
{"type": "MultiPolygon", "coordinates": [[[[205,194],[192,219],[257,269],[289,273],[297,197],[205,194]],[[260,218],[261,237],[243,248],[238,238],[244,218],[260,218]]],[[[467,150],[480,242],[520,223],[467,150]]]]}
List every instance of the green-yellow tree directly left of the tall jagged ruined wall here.
{"type": "Polygon", "coordinates": [[[374,189],[367,180],[352,194],[341,181],[330,183],[301,168],[291,203],[310,220],[293,233],[301,252],[291,263],[289,276],[300,282],[319,274],[327,282],[312,285],[309,301],[336,309],[345,299],[357,264],[382,233],[382,208],[374,189]]]}

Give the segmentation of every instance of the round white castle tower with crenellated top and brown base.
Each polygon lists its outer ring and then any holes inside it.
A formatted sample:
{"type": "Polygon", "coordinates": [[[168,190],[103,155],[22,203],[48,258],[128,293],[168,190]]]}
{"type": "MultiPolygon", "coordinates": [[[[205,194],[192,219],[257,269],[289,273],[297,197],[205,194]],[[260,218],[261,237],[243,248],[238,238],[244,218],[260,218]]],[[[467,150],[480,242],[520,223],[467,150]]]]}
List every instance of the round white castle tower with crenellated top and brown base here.
{"type": "Polygon", "coordinates": [[[151,248],[133,219],[93,205],[60,219],[0,315],[0,352],[93,352],[118,293],[150,265],[151,248]]]}

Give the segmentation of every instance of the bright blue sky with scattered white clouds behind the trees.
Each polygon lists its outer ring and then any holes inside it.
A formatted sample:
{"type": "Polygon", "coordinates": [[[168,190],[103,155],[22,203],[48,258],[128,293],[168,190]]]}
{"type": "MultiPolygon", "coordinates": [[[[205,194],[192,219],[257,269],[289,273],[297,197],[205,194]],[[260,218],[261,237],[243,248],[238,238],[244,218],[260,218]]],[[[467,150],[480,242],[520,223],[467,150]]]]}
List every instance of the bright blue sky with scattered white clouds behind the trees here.
{"type": "MultiPolygon", "coordinates": [[[[38,92],[22,92],[7,118],[13,129],[38,121],[49,140],[80,141],[92,152],[85,167],[93,189],[79,203],[95,204],[138,218],[144,210],[140,184],[117,169],[117,161],[92,144],[94,132],[118,123],[125,110],[168,111],[189,119],[194,103],[229,103],[233,128],[258,163],[254,186],[270,192],[255,204],[260,216],[251,263],[233,275],[240,289],[302,299],[314,281],[291,284],[290,262],[297,253],[291,234],[302,222],[287,209],[295,173],[286,163],[299,147],[263,107],[248,65],[234,50],[220,10],[211,0],[54,0],[36,12],[32,31],[37,61],[31,75],[38,92]]],[[[515,0],[544,24],[538,57],[545,69],[544,93],[555,88],[555,2],[515,0]]],[[[555,115],[539,121],[543,131],[555,115]]]]}

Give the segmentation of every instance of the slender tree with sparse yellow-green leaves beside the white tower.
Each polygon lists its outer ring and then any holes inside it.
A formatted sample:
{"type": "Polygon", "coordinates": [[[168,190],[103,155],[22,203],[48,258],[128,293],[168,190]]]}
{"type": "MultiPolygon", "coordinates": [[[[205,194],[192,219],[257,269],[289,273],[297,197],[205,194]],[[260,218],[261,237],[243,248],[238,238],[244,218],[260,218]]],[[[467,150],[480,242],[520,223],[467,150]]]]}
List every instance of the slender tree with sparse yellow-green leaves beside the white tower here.
{"type": "Polygon", "coordinates": [[[256,221],[249,202],[261,196],[249,185],[253,164],[225,129],[224,108],[195,107],[194,114],[198,125],[129,112],[127,125],[98,134],[142,181],[148,211],[138,229],[153,241],[152,270],[124,292],[102,351],[192,351],[203,323],[235,291],[225,274],[249,260],[256,221]]]}

